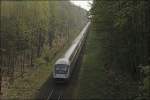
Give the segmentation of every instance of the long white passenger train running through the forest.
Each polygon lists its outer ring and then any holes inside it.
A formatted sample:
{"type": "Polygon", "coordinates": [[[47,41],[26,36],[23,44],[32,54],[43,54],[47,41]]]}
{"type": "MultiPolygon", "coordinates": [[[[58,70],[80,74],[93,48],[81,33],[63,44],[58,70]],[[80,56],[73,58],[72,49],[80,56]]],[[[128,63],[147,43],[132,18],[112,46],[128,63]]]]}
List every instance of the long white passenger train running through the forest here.
{"type": "Polygon", "coordinates": [[[65,81],[70,79],[75,63],[78,59],[79,53],[82,49],[82,46],[85,42],[87,36],[87,30],[91,22],[88,22],[87,25],[83,28],[81,33],[77,38],[72,42],[71,47],[63,55],[62,58],[59,58],[53,70],[53,78],[57,81],[65,81]]]}

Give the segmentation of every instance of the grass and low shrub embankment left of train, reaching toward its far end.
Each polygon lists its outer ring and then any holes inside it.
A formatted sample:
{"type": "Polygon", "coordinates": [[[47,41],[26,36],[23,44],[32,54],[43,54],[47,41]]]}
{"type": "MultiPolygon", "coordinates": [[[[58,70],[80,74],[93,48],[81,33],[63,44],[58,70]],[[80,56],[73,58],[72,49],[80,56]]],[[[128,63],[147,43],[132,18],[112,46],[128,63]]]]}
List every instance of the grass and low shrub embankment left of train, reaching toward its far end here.
{"type": "MultiPolygon", "coordinates": [[[[7,98],[9,99],[34,99],[37,96],[41,86],[50,77],[53,70],[55,61],[65,53],[72,43],[72,40],[76,38],[80,30],[72,31],[69,41],[61,47],[53,47],[50,54],[51,61],[45,62],[43,58],[39,58],[39,67],[30,68],[23,77],[15,79],[13,84],[10,84],[7,92],[7,98]]],[[[49,53],[48,53],[49,54],[49,53]]]]}

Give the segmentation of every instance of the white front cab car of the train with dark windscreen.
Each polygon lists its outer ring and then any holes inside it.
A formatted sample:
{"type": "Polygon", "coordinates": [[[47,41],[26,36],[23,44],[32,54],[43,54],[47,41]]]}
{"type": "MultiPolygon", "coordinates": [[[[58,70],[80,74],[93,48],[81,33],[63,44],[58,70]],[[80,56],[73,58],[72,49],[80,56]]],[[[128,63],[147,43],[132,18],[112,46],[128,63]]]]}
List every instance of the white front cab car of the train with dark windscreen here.
{"type": "Polygon", "coordinates": [[[60,58],[56,61],[53,69],[53,78],[56,82],[66,81],[69,79],[70,63],[65,58],[60,58]]]}

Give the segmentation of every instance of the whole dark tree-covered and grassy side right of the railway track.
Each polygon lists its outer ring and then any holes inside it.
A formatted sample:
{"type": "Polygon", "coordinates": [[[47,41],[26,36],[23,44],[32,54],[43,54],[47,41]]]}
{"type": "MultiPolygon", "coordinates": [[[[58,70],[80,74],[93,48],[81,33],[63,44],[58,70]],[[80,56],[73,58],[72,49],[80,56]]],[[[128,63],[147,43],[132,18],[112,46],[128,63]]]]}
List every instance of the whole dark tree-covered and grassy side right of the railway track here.
{"type": "Polygon", "coordinates": [[[150,2],[94,0],[79,99],[149,100],[150,2]]]}

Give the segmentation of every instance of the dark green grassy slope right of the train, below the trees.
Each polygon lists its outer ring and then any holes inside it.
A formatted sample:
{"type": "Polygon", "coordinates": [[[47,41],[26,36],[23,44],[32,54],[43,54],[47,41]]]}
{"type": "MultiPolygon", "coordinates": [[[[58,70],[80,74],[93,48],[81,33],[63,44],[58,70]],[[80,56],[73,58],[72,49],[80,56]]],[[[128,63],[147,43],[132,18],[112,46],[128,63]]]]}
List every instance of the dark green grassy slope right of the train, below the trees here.
{"type": "Polygon", "coordinates": [[[108,66],[107,54],[97,34],[89,34],[74,98],[133,99],[137,94],[137,83],[127,73],[108,66]]]}

